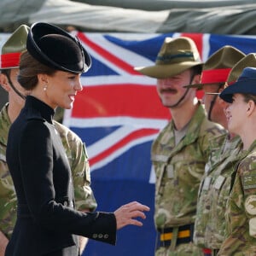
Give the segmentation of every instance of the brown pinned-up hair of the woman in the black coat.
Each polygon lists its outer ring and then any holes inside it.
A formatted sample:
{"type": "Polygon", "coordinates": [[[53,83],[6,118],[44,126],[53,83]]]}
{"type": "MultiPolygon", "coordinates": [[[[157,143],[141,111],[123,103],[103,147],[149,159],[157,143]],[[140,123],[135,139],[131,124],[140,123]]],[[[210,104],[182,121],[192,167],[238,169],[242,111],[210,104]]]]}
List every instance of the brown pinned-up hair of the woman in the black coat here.
{"type": "Polygon", "coordinates": [[[20,56],[20,73],[17,79],[24,89],[32,90],[38,84],[39,73],[53,75],[55,72],[54,68],[40,63],[26,51],[20,56]]]}

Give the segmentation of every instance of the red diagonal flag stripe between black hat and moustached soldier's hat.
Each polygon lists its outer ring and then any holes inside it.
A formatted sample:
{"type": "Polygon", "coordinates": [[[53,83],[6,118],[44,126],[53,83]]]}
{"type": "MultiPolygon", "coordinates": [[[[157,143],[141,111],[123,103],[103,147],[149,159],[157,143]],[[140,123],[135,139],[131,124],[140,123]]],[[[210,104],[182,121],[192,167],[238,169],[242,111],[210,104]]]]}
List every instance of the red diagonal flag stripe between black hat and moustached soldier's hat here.
{"type": "Polygon", "coordinates": [[[119,59],[117,56],[112,55],[106,49],[103,49],[98,44],[95,44],[93,41],[87,38],[83,32],[79,32],[78,37],[84,42],[84,44],[87,44],[91,49],[94,49],[99,55],[102,55],[103,58],[112,62],[117,67],[122,68],[127,73],[137,74],[137,71],[134,70],[133,66],[119,59]]]}

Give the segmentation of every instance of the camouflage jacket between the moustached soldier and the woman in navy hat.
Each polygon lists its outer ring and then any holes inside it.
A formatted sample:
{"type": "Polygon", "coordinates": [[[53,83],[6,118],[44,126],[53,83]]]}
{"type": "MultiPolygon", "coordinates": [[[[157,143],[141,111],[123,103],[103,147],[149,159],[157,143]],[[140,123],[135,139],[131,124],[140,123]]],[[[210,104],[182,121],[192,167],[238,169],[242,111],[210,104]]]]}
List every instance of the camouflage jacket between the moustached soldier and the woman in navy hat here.
{"type": "Polygon", "coordinates": [[[224,136],[222,147],[211,155],[197,200],[194,242],[199,247],[219,249],[224,241],[224,212],[230,194],[230,178],[241,153],[240,137],[224,136]]]}

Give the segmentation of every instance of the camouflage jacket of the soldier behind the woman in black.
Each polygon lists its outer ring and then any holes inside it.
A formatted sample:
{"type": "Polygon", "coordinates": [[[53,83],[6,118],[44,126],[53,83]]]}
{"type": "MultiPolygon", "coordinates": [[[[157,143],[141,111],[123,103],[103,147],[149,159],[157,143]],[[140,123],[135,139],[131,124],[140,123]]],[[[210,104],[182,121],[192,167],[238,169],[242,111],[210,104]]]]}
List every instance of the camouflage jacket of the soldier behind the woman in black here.
{"type": "MultiPolygon", "coordinates": [[[[16,221],[16,195],[5,159],[7,138],[11,122],[7,113],[8,104],[0,112],[0,230],[8,238],[16,221]]],[[[90,167],[84,143],[64,125],[55,122],[61,136],[73,173],[74,195],[79,211],[96,209],[96,200],[90,189],[90,167]]]]}

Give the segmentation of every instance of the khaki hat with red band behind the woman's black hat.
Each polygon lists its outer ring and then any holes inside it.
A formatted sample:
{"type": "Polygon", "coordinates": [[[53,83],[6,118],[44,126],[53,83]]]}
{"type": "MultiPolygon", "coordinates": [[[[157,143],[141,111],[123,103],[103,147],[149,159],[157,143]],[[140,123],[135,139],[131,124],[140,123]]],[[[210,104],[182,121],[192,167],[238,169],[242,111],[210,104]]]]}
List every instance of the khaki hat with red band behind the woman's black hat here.
{"type": "Polygon", "coordinates": [[[18,68],[20,65],[20,55],[26,51],[26,38],[29,27],[19,26],[15,32],[3,44],[1,49],[0,69],[18,68]]]}

